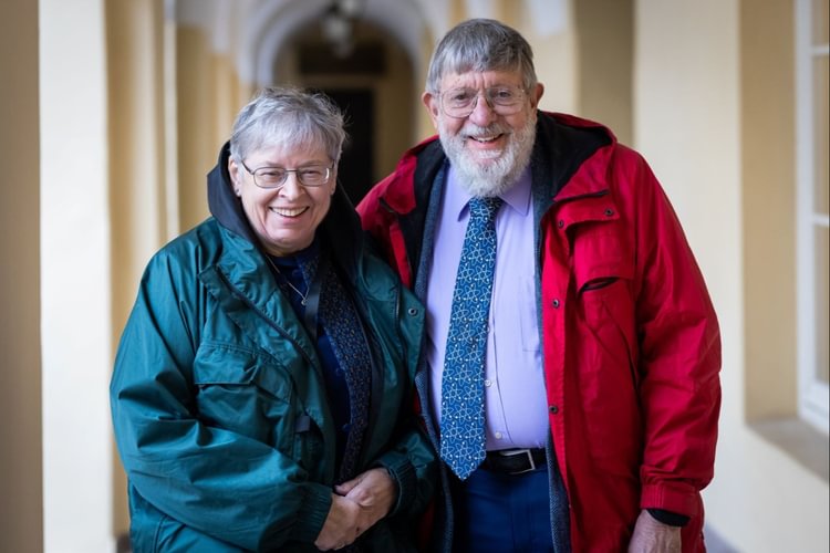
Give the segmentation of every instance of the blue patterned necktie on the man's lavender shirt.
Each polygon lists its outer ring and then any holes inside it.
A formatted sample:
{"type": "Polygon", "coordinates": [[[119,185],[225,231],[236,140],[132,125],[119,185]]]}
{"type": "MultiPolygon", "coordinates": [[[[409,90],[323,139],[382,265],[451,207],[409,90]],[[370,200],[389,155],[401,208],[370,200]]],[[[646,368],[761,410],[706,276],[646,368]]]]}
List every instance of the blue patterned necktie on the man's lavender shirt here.
{"type": "Polygon", "coordinates": [[[496,213],[501,198],[473,198],[453,294],[440,401],[440,456],[461,480],[485,458],[484,366],[496,213]]]}

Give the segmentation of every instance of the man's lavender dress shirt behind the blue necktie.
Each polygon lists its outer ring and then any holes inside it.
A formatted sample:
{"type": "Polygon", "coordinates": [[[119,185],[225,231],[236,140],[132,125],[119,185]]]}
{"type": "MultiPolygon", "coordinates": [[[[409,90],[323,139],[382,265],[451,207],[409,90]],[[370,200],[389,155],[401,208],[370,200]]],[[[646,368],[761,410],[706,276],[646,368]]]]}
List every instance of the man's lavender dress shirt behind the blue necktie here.
{"type": "MultiPolygon", "coordinates": [[[[496,274],[492,283],[487,361],[485,420],[487,450],[542,448],[548,439],[533,261],[533,213],[530,171],[501,196],[496,217],[496,274]]],[[[447,171],[435,232],[427,306],[427,362],[432,407],[440,420],[444,353],[449,331],[455,278],[469,219],[470,196],[447,171]]]]}

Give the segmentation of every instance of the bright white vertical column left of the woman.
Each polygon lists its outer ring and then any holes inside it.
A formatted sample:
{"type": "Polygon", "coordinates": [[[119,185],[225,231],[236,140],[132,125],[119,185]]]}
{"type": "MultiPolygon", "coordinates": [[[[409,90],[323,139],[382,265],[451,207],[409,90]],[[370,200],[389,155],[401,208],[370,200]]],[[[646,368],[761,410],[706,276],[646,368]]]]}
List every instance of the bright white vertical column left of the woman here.
{"type": "Polygon", "coordinates": [[[114,550],[104,23],[103,0],[40,0],[46,552],[114,550]]]}

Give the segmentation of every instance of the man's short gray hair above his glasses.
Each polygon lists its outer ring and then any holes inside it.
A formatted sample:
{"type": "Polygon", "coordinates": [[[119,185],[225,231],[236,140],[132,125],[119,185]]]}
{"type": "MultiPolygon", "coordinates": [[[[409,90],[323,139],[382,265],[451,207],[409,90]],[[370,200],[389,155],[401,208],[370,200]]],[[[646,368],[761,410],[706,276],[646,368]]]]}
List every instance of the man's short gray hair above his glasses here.
{"type": "Polygon", "coordinates": [[[492,19],[464,21],[444,35],[429,60],[426,91],[439,94],[444,75],[468,71],[519,71],[526,92],[537,82],[533,50],[528,41],[492,19]]]}

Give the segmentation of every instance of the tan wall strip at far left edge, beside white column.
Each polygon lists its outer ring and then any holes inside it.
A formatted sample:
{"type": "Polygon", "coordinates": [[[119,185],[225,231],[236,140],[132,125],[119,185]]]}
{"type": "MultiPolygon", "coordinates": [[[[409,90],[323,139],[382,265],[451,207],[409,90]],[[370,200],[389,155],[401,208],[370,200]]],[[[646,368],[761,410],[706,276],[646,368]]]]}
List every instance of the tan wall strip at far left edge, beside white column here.
{"type": "Polygon", "coordinates": [[[43,546],[38,3],[0,18],[0,550],[43,546]]]}

